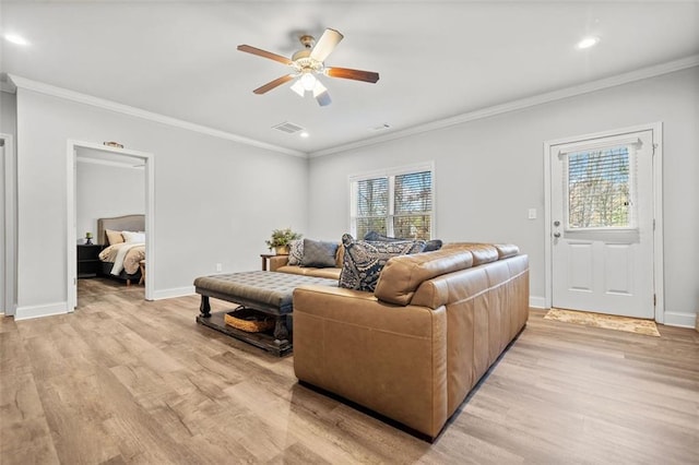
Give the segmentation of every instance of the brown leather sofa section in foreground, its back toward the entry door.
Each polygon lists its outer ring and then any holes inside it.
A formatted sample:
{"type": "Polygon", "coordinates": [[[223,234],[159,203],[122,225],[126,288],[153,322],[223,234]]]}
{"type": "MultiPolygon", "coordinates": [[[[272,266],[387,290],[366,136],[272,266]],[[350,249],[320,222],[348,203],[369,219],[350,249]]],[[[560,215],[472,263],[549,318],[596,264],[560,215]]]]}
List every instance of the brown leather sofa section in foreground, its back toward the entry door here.
{"type": "Polygon", "coordinates": [[[434,440],[526,324],[529,259],[448,243],[392,258],[374,294],[294,291],[294,370],[434,440]]]}

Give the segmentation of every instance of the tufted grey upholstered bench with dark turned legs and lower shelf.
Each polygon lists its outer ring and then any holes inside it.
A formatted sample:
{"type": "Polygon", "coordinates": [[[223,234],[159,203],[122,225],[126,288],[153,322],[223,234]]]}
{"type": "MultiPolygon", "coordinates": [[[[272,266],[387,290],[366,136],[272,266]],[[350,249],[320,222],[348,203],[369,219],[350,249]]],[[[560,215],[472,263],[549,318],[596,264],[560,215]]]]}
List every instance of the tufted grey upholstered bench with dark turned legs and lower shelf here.
{"type": "Polygon", "coordinates": [[[197,317],[197,321],[236,338],[271,349],[277,355],[283,355],[291,351],[292,348],[287,315],[294,309],[292,300],[294,289],[309,284],[336,287],[337,281],[268,271],[200,276],[194,279],[194,290],[201,295],[201,313],[197,317]],[[265,344],[259,335],[245,334],[226,326],[225,323],[222,325],[218,319],[213,319],[212,322],[210,297],[235,302],[274,317],[273,345],[265,344]]]}

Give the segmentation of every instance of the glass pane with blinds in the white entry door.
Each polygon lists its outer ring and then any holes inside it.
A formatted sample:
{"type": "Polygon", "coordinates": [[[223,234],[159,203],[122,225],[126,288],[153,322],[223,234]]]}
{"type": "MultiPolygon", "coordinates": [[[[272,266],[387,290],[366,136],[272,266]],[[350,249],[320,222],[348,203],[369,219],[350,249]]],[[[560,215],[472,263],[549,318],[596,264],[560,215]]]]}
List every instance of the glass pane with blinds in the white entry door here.
{"type": "Polygon", "coordinates": [[[632,228],[633,172],[628,146],[567,155],[567,227],[571,230],[632,228]]]}

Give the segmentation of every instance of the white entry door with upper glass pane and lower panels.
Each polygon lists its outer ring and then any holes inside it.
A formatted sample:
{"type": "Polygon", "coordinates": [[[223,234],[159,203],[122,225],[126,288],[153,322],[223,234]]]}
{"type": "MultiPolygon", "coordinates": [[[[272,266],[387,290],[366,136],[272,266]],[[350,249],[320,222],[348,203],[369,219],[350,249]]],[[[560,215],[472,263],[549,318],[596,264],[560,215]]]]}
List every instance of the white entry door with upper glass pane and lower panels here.
{"type": "Polygon", "coordinates": [[[653,131],[550,145],[552,307],[654,318],[653,131]]]}

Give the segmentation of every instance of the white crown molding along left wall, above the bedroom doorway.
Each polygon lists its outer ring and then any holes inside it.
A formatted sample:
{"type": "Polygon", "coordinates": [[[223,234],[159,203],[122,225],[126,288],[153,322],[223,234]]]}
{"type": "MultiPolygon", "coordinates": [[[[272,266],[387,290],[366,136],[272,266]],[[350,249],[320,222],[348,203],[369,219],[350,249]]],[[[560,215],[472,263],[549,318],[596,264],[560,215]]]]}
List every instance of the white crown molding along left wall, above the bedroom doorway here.
{"type": "Polygon", "coordinates": [[[38,81],[33,81],[26,78],[19,76],[16,74],[8,74],[8,79],[14,84],[14,86],[16,86],[16,88],[24,88],[24,90],[37,92],[40,94],[50,95],[52,97],[76,102],[79,104],[91,105],[93,107],[116,111],[119,114],[145,119],[149,121],[159,122],[162,124],[167,124],[175,128],[199,132],[199,133],[211,135],[214,138],[225,139],[227,141],[233,141],[233,142],[250,145],[258,148],[264,148],[268,151],[279,152],[286,155],[294,155],[303,158],[307,157],[307,154],[305,152],[299,152],[292,148],[282,147],[279,145],[268,144],[265,142],[256,141],[254,139],[249,139],[242,135],[233,134],[230,132],[208,128],[205,126],[196,124],[196,123],[183,121],[177,118],[170,118],[153,111],[147,111],[147,110],[131,107],[128,105],[118,104],[116,102],[106,100],[104,98],[93,97],[92,95],[81,94],[79,92],[70,91],[62,87],[57,87],[57,86],[45,84],[38,81]]]}

